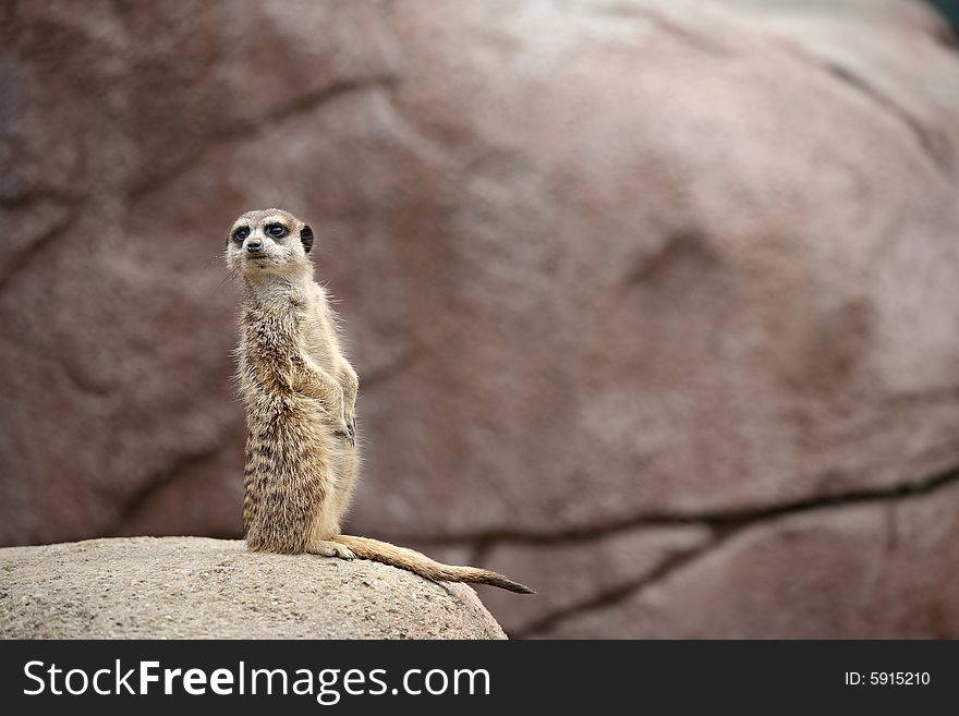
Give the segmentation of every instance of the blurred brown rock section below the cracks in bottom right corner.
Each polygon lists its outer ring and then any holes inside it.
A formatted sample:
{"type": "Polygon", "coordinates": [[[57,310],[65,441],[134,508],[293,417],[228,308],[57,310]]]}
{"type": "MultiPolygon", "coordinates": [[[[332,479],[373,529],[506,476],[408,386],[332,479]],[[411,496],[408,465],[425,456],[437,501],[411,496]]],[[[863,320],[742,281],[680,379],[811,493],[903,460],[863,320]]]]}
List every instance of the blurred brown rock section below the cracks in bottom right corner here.
{"type": "Polygon", "coordinates": [[[524,635],[955,639],[957,542],[959,484],[772,515],[690,553],[653,582],[567,609],[524,635]]]}

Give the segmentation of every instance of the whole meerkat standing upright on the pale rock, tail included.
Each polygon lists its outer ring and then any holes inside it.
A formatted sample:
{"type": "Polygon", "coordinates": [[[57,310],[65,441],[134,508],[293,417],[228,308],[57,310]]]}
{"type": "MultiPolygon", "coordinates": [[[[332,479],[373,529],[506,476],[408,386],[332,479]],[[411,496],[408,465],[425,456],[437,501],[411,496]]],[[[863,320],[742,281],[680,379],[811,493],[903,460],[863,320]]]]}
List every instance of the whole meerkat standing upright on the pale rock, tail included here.
{"type": "Polygon", "coordinates": [[[227,236],[243,281],[240,392],[246,404],[243,525],[255,551],[372,559],[433,581],[532,590],[476,567],[340,534],[360,472],[360,380],[337,335],[326,290],[313,280],[313,230],[280,209],[248,211],[227,236]]]}

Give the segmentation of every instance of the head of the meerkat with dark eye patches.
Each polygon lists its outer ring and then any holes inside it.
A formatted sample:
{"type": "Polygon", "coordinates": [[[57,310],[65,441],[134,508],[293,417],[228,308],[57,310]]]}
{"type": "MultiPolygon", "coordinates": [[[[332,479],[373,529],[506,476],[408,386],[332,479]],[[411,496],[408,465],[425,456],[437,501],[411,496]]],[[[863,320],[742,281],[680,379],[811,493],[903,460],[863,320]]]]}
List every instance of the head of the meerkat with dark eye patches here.
{"type": "Polygon", "coordinates": [[[227,264],[247,281],[296,278],[312,270],[313,229],[282,209],[247,211],[227,236],[227,264]]]}

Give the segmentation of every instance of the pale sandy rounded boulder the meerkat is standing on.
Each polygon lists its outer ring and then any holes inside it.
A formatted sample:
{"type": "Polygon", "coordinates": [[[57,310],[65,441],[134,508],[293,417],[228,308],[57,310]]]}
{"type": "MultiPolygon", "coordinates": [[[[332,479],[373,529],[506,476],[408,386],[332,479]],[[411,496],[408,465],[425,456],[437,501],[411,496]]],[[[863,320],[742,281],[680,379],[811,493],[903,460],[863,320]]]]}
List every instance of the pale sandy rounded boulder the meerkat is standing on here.
{"type": "Polygon", "coordinates": [[[0,549],[5,639],[503,639],[462,584],[205,537],[0,549]]]}

